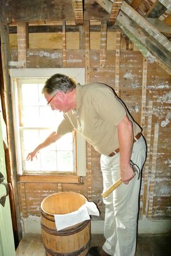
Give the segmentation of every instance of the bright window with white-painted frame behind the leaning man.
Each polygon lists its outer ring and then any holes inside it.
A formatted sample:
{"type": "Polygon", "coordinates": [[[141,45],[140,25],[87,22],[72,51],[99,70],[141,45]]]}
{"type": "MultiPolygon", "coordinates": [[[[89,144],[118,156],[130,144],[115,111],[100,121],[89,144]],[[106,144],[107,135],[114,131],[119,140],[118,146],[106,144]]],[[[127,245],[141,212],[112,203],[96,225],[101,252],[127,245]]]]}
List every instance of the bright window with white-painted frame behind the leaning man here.
{"type": "Polygon", "coordinates": [[[67,74],[76,83],[84,83],[83,68],[11,69],[11,92],[15,122],[15,145],[20,175],[76,175],[85,170],[85,141],[73,131],[43,148],[34,161],[27,154],[50,132],[55,131],[63,113],[52,111],[41,94],[45,81],[56,73],[67,74]]]}

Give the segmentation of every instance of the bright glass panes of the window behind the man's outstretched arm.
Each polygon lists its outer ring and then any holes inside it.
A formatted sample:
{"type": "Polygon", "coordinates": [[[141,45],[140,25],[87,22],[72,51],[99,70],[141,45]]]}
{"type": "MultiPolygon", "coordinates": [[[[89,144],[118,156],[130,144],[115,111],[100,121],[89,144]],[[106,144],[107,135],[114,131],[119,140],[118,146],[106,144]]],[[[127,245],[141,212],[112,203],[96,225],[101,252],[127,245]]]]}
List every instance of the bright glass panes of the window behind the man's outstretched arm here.
{"type": "MultiPolygon", "coordinates": [[[[52,111],[41,91],[43,79],[22,79],[19,87],[19,120],[22,168],[25,173],[73,172],[73,134],[43,148],[38,159],[26,161],[27,154],[43,142],[63,119],[63,113],[52,111]]],[[[75,148],[75,146],[74,146],[75,148]]],[[[75,156],[75,154],[74,154],[75,156]]]]}

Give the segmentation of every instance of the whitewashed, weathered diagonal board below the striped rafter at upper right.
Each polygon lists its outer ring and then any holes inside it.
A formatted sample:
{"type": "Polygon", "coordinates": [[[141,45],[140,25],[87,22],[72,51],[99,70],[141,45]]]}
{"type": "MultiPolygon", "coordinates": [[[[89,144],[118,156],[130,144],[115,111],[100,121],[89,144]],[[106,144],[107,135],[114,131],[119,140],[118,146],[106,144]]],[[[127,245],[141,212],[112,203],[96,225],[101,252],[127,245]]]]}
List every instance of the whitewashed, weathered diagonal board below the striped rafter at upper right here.
{"type": "Polygon", "coordinates": [[[168,74],[171,74],[171,54],[160,45],[156,40],[145,35],[142,29],[133,28],[130,19],[123,12],[119,12],[117,25],[123,29],[124,33],[133,41],[144,57],[151,57],[160,65],[168,74]]]}

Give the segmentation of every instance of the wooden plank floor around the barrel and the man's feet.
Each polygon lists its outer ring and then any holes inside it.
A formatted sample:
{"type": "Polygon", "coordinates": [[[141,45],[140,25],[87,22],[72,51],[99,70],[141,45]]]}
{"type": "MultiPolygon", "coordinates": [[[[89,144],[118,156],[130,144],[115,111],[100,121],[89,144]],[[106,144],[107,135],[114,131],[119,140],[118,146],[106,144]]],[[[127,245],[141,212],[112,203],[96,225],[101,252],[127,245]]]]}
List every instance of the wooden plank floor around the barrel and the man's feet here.
{"type": "MultiPolygon", "coordinates": [[[[91,235],[91,246],[102,246],[103,235],[91,235]]],[[[16,256],[45,256],[41,234],[26,234],[22,238],[16,256]]],[[[139,235],[135,256],[170,256],[171,234],[139,235]]],[[[128,255],[129,256],[129,255],[128,255]]]]}

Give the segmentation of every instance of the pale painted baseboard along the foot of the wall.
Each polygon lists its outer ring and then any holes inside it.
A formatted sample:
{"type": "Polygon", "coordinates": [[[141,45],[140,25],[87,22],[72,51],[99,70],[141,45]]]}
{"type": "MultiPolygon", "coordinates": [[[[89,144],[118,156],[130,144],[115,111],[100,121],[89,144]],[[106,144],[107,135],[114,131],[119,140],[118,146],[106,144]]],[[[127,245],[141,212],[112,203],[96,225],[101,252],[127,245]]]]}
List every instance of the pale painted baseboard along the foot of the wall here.
{"type": "MultiPolygon", "coordinates": [[[[23,232],[40,234],[40,217],[29,216],[23,219],[23,232]]],[[[104,221],[91,221],[91,234],[103,234],[104,221]]],[[[160,234],[171,232],[171,220],[140,220],[138,234],[160,234]]]]}

